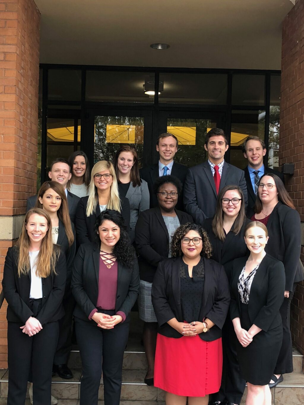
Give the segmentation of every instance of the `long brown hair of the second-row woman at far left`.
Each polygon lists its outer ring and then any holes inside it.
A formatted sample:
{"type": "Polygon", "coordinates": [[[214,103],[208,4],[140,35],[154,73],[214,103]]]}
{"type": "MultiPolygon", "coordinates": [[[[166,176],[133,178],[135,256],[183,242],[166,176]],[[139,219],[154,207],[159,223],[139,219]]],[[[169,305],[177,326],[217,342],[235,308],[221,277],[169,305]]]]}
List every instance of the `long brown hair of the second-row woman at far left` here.
{"type": "Polygon", "coordinates": [[[69,246],[72,246],[73,242],[74,242],[74,234],[73,234],[73,230],[72,230],[72,226],[71,226],[68,201],[66,199],[66,195],[65,195],[63,186],[60,183],[57,183],[57,181],[45,181],[43,183],[43,185],[41,186],[41,188],[39,189],[35,207],[43,209],[43,205],[39,201],[39,197],[43,198],[45,192],[47,192],[47,190],[49,190],[49,188],[54,190],[54,192],[57,193],[61,197],[61,204],[57,211],[57,215],[64,226],[64,230],[66,233],[66,237],[68,238],[69,246]]]}

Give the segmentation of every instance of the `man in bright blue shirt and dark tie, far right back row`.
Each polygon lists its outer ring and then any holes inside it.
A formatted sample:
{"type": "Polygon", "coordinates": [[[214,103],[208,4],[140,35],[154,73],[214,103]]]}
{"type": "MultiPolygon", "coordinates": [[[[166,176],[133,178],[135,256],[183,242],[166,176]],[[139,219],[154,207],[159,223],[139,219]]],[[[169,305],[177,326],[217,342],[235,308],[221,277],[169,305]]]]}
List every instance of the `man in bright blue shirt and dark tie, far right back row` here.
{"type": "Polygon", "coordinates": [[[266,145],[258,136],[248,136],[245,139],[243,153],[248,160],[248,165],[244,168],[244,172],[248,192],[248,210],[251,210],[255,205],[260,177],[267,173],[274,173],[284,183],[284,175],[277,170],[264,166],[263,157],[266,154],[266,145]]]}

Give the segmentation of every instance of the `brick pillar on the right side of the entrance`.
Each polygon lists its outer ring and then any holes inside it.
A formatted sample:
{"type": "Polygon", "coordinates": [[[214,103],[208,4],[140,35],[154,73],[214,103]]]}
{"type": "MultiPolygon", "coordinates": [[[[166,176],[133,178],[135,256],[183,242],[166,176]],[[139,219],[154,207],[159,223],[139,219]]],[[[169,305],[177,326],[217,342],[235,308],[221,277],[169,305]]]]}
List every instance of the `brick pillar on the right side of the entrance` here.
{"type": "MultiPolygon", "coordinates": [[[[295,164],[287,190],[304,222],[304,0],[298,0],[283,21],[279,159],[295,164]]],[[[304,283],[298,285],[291,305],[291,333],[304,354],[304,283]]]]}

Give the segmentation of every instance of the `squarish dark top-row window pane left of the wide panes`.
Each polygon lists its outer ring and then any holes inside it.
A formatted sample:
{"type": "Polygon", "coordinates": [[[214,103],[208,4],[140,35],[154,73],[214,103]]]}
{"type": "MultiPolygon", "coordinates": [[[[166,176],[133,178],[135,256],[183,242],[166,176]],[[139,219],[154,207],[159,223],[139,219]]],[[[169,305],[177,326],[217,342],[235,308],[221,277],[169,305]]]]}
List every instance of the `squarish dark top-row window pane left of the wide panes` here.
{"type": "Polygon", "coordinates": [[[49,69],[48,99],[81,100],[81,70],[49,69]]]}

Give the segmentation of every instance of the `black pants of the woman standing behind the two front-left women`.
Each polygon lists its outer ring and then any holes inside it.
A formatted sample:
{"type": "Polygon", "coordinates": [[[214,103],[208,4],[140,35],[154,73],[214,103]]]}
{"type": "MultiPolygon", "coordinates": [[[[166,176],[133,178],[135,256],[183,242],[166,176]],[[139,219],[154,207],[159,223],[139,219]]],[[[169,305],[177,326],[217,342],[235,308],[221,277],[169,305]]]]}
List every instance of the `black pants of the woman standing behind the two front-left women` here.
{"type": "Polygon", "coordinates": [[[69,290],[62,301],[64,316],[59,322],[59,337],[54,357],[54,364],[67,364],[72,349],[72,320],[75,309],[75,299],[69,290]]]}

